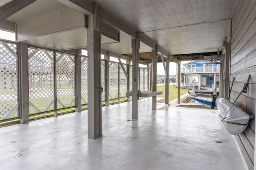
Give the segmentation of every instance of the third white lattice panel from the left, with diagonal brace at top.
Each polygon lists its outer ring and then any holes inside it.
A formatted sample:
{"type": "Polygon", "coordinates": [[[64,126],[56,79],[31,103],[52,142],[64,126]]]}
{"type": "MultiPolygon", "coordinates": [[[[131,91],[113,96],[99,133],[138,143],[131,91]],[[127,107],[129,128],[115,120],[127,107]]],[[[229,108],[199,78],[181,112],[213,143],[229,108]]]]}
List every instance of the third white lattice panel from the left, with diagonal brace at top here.
{"type": "Polygon", "coordinates": [[[75,106],[75,56],[56,53],[57,108],[75,106]]]}

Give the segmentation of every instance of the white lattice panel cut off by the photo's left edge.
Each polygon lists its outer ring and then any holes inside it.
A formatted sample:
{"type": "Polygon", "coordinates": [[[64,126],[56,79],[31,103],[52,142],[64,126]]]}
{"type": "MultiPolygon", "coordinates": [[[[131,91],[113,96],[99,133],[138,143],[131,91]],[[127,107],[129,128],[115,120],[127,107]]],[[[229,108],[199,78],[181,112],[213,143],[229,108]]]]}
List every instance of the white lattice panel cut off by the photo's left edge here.
{"type": "Polygon", "coordinates": [[[0,120],[18,117],[17,45],[0,41],[0,120]]]}

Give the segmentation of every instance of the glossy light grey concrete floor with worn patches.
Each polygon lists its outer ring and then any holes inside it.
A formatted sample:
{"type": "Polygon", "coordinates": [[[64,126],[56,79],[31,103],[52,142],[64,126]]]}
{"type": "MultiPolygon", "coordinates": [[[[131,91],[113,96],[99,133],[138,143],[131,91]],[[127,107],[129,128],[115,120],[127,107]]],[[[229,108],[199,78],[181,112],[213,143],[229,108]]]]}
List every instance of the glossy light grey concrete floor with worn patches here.
{"type": "Polygon", "coordinates": [[[103,137],[87,138],[87,111],[0,129],[2,170],[246,170],[218,111],[139,101],[102,107],[103,137]]]}

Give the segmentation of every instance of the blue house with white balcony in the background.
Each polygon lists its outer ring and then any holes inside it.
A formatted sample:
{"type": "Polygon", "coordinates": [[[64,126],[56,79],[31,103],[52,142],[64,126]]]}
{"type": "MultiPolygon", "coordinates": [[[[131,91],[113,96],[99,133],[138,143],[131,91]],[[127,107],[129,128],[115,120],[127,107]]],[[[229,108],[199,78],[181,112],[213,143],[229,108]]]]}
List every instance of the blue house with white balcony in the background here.
{"type": "Polygon", "coordinates": [[[220,64],[210,64],[205,60],[190,61],[181,68],[184,88],[210,87],[218,88],[220,82],[220,64]],[[198,80],[198,84],[196,81],[198,80]],[[197,85],[197,86],[196,86],[197,85]]]}

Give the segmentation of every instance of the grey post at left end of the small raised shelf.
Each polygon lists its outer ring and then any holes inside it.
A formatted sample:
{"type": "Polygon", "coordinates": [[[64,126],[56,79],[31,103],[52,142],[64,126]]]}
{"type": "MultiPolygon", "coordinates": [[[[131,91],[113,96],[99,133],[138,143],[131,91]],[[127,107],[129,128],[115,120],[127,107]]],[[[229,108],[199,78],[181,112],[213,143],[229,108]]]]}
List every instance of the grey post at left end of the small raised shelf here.
{"type": "Polygon", "coordinates": [[[140,40],[132,39],[132,119],[138,119],[140,40]]]}

